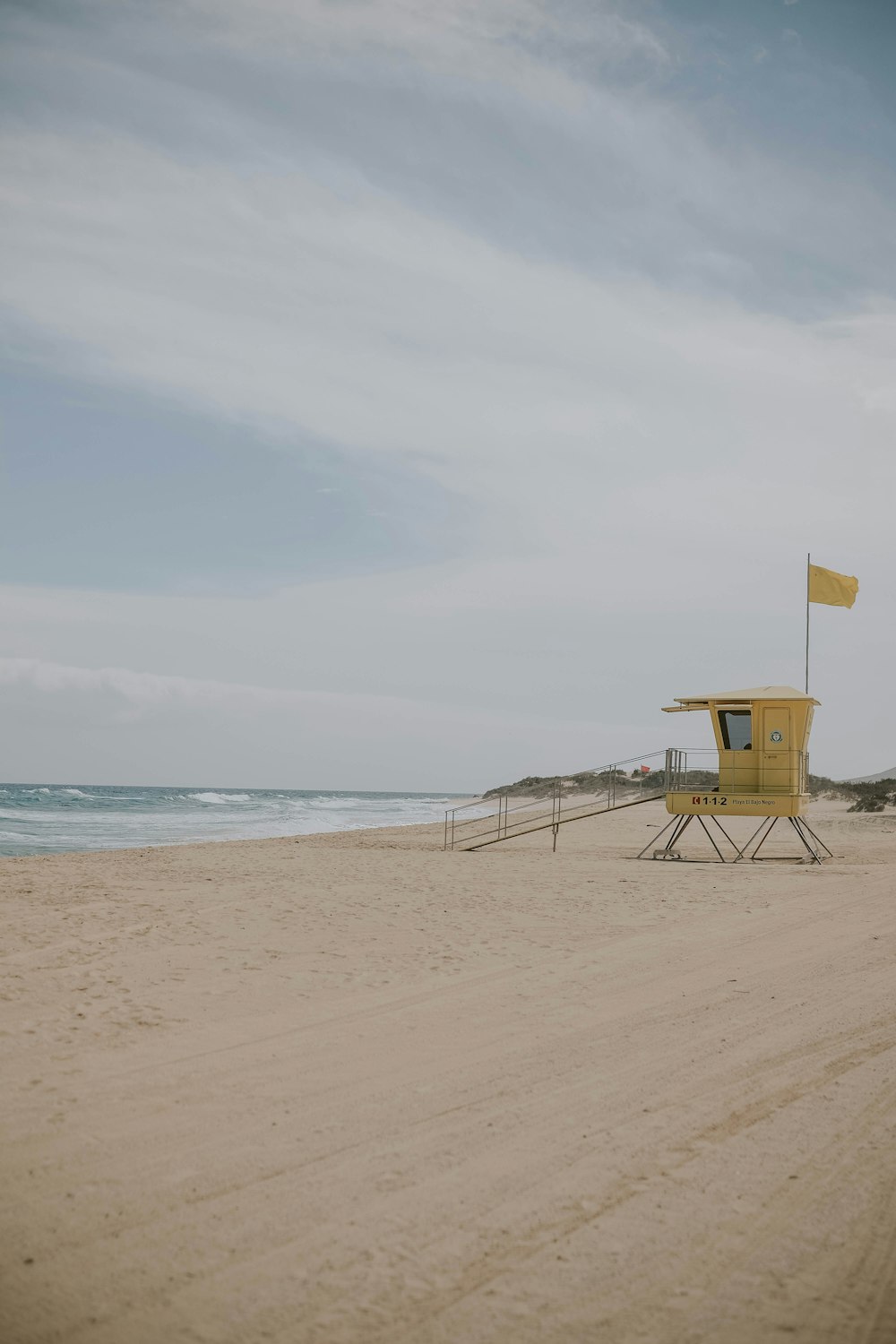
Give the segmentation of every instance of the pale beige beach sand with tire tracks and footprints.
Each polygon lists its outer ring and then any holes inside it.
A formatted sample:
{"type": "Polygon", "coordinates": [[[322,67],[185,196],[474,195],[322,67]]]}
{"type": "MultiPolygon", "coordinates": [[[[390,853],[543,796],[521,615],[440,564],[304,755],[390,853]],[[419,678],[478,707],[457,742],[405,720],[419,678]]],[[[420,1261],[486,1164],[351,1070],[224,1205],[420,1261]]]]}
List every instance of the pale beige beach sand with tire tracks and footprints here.
{"type": "Polygon", "coordinates": [[[0,862],[0,1339],[896,1340],[896,818],[0,862]]]}

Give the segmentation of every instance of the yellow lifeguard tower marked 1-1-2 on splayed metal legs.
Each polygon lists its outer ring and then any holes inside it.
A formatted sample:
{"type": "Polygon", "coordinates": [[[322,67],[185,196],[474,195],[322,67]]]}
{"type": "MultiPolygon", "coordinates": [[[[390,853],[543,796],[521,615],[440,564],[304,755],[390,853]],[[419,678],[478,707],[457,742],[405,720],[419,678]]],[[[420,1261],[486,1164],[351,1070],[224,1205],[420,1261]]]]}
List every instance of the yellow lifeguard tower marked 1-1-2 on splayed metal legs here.
{"type": "Polygon", "coordinates": [[[666,810],[673,820],[657,840],[672,833],[662,848],[654,848],[653,857],[680,859],[676,847],[695,817],[723,863],[725,849],[733,849],[735,863],[755,859],[780,818],[790,823],[813,862],[822,862],[822,851],[830,857],[830,849],[803,820],[809,802],[809,731],[817,704],[818,700],[791,685],[756,685],[676,696],[674,704],[664,706],[666,714],[709,711],[719,751],[719,784],[695,786],[697,771],[688,766],[689,753],[666,753],[666,810]],[[747,844],[739,845],[724,827],[727,817],[763,817],[763,821],[747,844]]]}

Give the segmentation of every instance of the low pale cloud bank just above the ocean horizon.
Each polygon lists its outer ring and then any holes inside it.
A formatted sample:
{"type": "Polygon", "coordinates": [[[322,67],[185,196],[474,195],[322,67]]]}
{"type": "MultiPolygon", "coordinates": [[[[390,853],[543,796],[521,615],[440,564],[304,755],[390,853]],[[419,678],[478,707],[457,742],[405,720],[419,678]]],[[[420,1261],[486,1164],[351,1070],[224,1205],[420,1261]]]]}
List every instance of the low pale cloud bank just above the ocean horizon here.
{"type": "MultiPolygon", "coordinates": [[[[649,750],[643,726],[543,719],[399,696],[273,689],[126,668],[87,668],[0,659],[11,712],[5,761],[17,778],[74,777],[121,782],[257,782],[259,786],[484,789],[498,767],[524,773],[587,765],[595,746],[618,755],[649,750]],[[70,741],[35,737],[70,716],[91,743],[81,769],[70,741]],[[485,749],[489,773],[472,754],[485,749]],[[625,743],[625,746],[623,746],[625,743]],[[136,747],[137,754],[133,754],[136,747]],[[74,771],[74,774],[73,774],[74,771]]],[[[600,763],[591,759],[591,763],[600,763]]]]}

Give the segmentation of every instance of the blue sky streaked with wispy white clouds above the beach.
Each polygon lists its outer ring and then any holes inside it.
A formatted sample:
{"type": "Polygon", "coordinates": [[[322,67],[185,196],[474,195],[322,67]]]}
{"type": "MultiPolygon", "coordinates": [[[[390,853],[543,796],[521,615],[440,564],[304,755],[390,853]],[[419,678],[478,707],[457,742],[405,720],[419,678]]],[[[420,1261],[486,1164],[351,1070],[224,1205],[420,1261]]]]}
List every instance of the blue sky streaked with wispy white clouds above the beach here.
{"type": "Polygon", "coordinates": [[[896,761],[889,0],[0,0],[0,775],[896,761]]]}

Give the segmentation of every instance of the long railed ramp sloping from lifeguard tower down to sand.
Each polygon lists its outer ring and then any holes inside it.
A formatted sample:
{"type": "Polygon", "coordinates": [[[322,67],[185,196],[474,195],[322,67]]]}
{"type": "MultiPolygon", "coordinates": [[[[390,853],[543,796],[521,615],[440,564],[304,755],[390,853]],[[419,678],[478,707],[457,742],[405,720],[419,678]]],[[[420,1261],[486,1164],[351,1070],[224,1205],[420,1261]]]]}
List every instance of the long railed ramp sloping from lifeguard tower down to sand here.
{"type": "MultiPolygon", "coordinates": [[[[600,784],[600,790],[595,798],[587,802],[576,802],[570,792],[564,793],[562,778],[553,782],[553,790],[548,797],[525,800],[510,806],[512,794],[501,793],[497,798],[497,812],[482,814],[482,802],[467,802],[459,808],[449,808],[445,813],[445,849],[484,849],[490,844],[501,844],[505,840],[514,840],[517,836],[532,835],[535,831],[553,832],[553,849],[557,847],[557,832],[568,821],[584,821],[587,817],[598,817],[606,812],[621,812],[623,808],[637,808],[642,802],[656,802],[666,794],[668,753],[650,751],[646,755],[631,757],[629,761],[617,761],[609,766],[599,766],[595,770],[580,771],[594,774],[600,784]],[[631,767],[642,766],[656,761],[656,769],[662,771],[662,784],[652,786],[650,792],[643,789],[631,778],[631,767]],[[472,816],[461,816],[470,813],[472,816]]],[[[653,770],[650,773],[654,773],[653,770]]]]}

